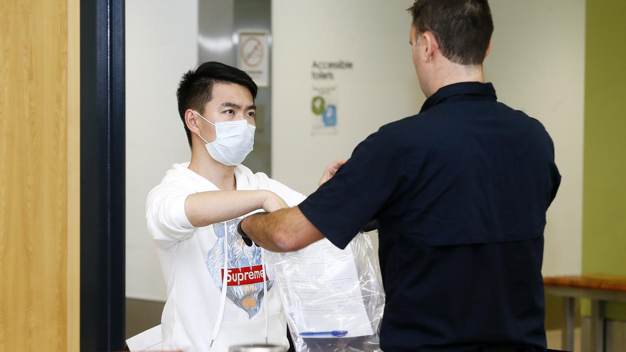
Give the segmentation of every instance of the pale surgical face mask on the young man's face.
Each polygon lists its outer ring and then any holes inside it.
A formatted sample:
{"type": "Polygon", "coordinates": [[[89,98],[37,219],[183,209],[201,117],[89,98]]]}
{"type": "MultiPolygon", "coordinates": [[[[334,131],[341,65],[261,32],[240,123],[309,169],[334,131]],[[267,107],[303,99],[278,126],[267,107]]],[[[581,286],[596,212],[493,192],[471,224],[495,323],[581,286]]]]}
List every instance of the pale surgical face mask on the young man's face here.
{"type": "Polygon", "coordinates": [[[209,143],[201,135],[198,135],[207,143],[205,147],[213,159],[227,166],[235,166],[242,163],[245,157],[252,152],[256,127],[250,125],[246,120],[212,123],[197,111],[193,110],[193,113],[215,126],[215,140],[213,142],[209,143]]]}

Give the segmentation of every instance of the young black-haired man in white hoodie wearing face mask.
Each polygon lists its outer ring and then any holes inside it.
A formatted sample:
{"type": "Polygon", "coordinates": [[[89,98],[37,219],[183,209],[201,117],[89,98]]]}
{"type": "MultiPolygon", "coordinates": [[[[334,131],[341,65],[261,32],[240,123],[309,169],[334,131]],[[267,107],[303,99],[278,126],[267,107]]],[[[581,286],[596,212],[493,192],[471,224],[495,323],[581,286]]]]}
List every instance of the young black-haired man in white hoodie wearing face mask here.
{"type": "MultiPolygon", "coordinates": [[[[289,346],[265,250],[246,246],[237,233],[245,215],[304,200],[241,164],[254,145],[256,94],[244,71],[217,62],[188,71],[178,86],[191,161],[174,164],[146,201],[148,230],[167,283],[163,349],[289,346]]],[[[321,182],[340,164],[329,165],[321,182]]]]}

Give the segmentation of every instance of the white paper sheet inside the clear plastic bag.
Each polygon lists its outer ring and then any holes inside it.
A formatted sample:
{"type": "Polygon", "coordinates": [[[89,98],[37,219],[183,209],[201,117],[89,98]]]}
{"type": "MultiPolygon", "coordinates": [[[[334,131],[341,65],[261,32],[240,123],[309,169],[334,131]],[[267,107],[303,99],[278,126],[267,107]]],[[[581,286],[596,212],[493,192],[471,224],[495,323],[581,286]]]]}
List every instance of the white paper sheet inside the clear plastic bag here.
{"type": "MultiPolygon", "coordinates": [[[[347,331],[343,337],[372,334],[351,246],[342,251],[323,239],[287,256],[293,271],[289,273],[289,287],[282,289],[289,292],[287,314],[298,334],[327,331],[347,331]]],[[[307,338],[332,338],[332,335],[307,338]]]]}

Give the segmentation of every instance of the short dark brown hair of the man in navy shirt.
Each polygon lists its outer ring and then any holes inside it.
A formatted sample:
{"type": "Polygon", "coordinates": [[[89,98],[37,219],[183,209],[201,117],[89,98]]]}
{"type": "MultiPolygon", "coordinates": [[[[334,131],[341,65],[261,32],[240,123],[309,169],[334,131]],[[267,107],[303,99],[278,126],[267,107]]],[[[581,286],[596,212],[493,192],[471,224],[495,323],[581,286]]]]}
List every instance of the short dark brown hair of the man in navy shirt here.
{"type": "Polygon", "coordinates": [[[418,33],[431,31],[448,60],[482,65],[493,33],[487,0],[416,0],[408,11],[418,33]]]}

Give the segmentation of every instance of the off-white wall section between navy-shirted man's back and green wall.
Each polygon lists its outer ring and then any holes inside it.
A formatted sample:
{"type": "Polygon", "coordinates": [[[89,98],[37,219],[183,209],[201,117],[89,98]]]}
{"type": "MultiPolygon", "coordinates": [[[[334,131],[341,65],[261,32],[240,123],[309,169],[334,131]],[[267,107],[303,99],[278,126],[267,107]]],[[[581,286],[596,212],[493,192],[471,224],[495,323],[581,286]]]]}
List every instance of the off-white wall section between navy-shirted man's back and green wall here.
{"type": "Polygon", "coordinates": [[[498,100],[543,123],[563,176],[546,215],[543,274],[580,274],[585,0],[492,0],[490,6],[495,31],[486,79],[498,100]]]}

